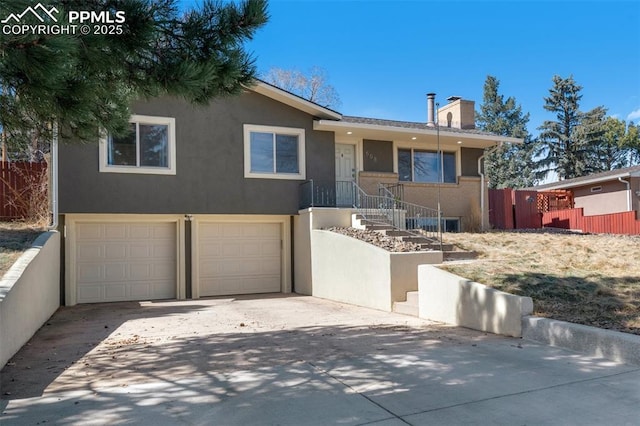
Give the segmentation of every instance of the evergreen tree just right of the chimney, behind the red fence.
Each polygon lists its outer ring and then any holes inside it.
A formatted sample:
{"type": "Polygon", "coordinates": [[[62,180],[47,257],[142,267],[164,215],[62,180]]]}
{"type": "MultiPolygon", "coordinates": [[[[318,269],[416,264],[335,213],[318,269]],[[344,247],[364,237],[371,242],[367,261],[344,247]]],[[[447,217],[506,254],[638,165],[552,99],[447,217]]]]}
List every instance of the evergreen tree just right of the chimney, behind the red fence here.
{"type": "Polygon", "coordinates": [[[504,100],[498,93],[500,82],[487,76],[476,126],[501,136],[523,138],[523,144],[503,144],[487,156],[487,178],[490,188],[524,188],[535,184],[532,154],[534,142],[527,131],[529,114],[523,114],[513,97],[504,100]]]}

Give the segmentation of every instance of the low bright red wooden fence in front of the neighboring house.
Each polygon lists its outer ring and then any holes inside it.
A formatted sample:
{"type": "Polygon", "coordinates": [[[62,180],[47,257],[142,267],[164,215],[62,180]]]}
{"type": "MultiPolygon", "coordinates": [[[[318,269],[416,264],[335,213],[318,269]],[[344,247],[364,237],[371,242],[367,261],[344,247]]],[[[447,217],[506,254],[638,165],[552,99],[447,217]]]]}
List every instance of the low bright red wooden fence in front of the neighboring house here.
{"type": "Polygon", "coordinates": [[[542,226],[593,234],[640,235],[640,220],[635,211],[585,216],[582,208],[556,210],[542,215],[542,226]]]}

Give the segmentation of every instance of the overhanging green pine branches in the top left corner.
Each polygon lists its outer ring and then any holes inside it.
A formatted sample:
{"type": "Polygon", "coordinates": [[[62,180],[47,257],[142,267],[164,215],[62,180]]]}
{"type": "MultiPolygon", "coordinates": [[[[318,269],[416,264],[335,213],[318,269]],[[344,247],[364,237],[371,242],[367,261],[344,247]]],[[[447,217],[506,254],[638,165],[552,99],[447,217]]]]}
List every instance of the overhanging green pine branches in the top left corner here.
{"type": "MultiPolygon", "coordinates": [[[[0,17],[33,2],[5,0],[0,17]]],[[[0,34],[0,126],[7,140],[61,136],[96,140],[127,129],[132,100],[178,96],[194,104],[237,94],[256,70],[243,43],[268,19],[266,0],[204,0],[181,13],[177,0],[51,0],[69,11],[124,12],[121,34],[0,34]]],[[[27,14],[21,24],[34,23],[27,14]]]]}

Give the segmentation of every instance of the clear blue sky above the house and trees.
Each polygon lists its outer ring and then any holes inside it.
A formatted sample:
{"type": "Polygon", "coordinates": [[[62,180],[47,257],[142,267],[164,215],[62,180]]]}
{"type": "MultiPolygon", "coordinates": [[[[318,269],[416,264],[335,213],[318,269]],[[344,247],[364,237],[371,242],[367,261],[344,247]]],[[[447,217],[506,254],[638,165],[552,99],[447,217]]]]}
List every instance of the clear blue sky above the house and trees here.
{"type": "Polygon", "coordinates": [[[477,109],[493,75],[537,134],[557,74],[583,86],[582,110],[640,122],[640,1],[271,0],[269,13],[247,45],[259,71],[324,68],[346,115],[425,121],[428,92],[477,109]]]}

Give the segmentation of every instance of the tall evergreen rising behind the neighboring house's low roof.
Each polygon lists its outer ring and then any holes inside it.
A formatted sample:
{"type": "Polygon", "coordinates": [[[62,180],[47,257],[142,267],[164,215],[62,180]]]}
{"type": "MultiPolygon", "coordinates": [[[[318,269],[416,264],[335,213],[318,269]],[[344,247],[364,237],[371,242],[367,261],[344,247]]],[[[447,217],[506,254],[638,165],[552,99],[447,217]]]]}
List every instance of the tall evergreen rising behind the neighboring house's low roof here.
{"type": "Polygon", "coordinates": [[[591,115],[580,112],[581,90],[582,86],[576,84],[573,76],[553,77],[549,97],[544,98],[544,109],[554,112],[557,120],[547,120],[539,127],[540,177],[555,171],[560,179],[571,179],[584,176],[592,169],[592,144],[598,132],[593,124],[604,109],[599,107],[601,109],[593,110],[591,115]]]}

